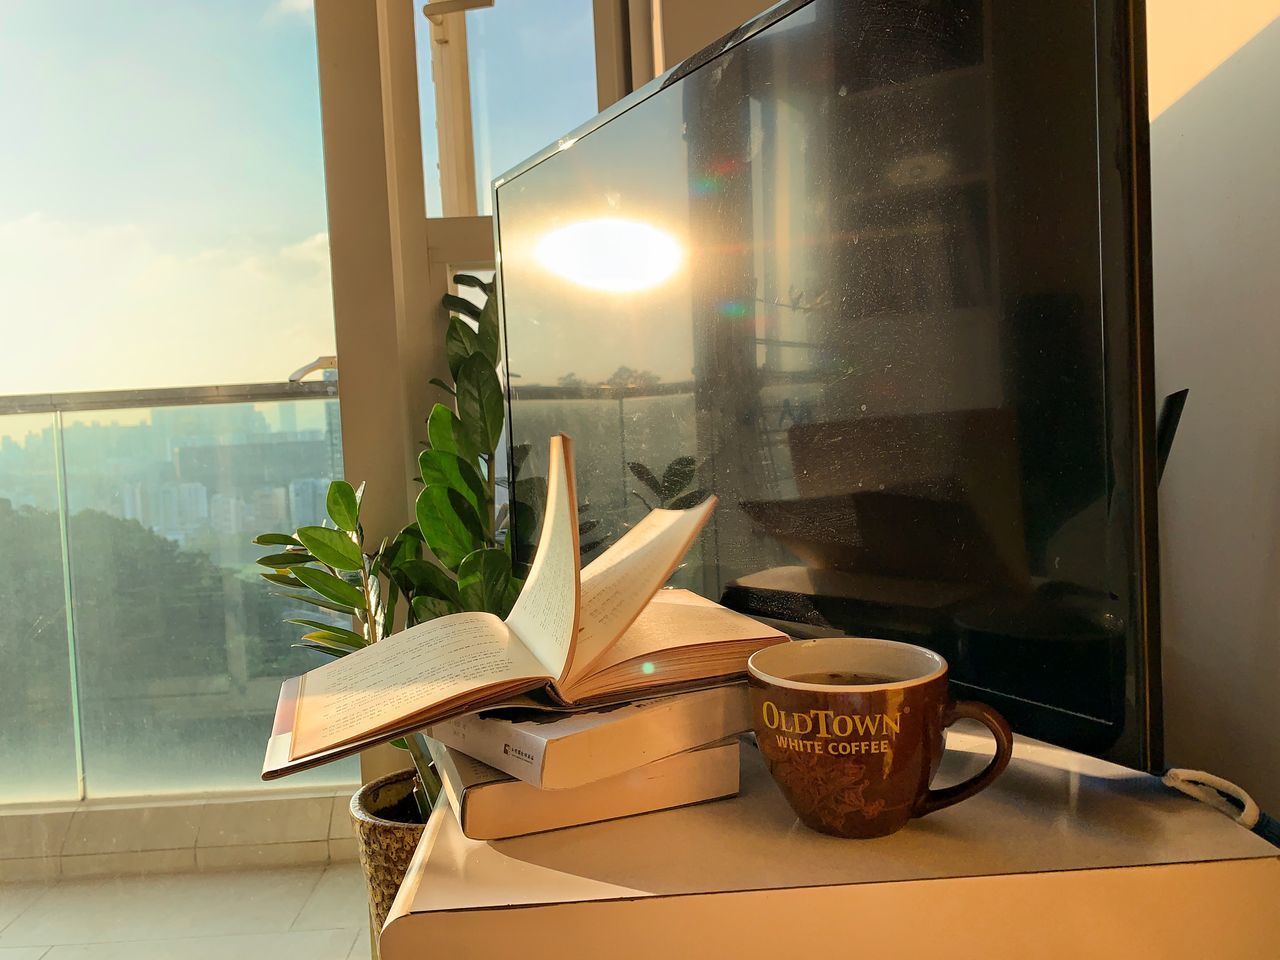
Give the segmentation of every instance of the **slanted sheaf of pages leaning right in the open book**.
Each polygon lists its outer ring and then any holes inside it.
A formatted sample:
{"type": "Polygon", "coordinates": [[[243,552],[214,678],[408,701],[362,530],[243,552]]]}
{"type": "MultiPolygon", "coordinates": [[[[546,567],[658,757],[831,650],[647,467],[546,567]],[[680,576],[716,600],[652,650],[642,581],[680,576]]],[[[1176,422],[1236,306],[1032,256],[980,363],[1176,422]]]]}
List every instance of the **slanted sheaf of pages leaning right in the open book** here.
{"type": "Polygon", "coordinates": [[[689,509],[653,509],[582,571],[576,666],[568,682],[588,676],[640,616],[684,559],[716,509],[712,497],[689,509]]]}

